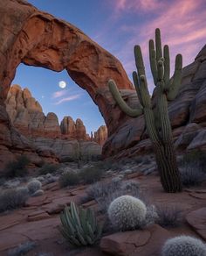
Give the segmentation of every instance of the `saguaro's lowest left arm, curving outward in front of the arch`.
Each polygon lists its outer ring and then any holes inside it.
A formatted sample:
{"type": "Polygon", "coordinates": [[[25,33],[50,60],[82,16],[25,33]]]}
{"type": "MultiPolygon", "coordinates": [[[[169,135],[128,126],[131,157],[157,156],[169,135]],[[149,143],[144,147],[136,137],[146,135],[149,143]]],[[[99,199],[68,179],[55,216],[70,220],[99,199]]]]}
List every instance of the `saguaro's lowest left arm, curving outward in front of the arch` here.
{"type": "Polygon", "coordinates": [[[113,98],[116,103],[118,103],[120,109],[125,112],[129,117],[139,117],[142,114],[142,109],[132,109],[130,108],[127,103],[123,100],[122,96],[120,95],[119,90],[117,89],[116,83],[113,80],[109,80],[108,87],[110,92],[113,95],[113,98]]]}

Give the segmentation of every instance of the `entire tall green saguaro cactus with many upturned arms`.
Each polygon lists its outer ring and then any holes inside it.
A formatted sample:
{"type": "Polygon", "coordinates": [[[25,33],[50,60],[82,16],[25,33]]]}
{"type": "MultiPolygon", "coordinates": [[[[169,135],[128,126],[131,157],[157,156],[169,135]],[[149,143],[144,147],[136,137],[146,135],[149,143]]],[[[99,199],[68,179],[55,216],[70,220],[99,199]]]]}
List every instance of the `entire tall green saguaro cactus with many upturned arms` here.
{"type": "Polygon", "coordinates": [[[179,192],[182,190],[182,182],[176,163],[171,124],[168,118],[168,101],[175,99],[180,87],[182,55],[176,55],[175,73],[170,79],[168,46],[163,47],[162,55],[161,32],[157,28],[155,30],[155,49],[154,40],[149,40],[150,68],[156,87],[154,106],[152,106],[151,97],[148,92],[148,83],[140,46],[134,46],[134,57],[137,72],[134,71],[133,80],[141,108],[130,108],[120,96],[120,92],[113,80],[109,80],[108,86],[116,103],[128,116],[138,117],[143,113],[148,135],[154,147],[162,187],[166,192],[179,192]]]}

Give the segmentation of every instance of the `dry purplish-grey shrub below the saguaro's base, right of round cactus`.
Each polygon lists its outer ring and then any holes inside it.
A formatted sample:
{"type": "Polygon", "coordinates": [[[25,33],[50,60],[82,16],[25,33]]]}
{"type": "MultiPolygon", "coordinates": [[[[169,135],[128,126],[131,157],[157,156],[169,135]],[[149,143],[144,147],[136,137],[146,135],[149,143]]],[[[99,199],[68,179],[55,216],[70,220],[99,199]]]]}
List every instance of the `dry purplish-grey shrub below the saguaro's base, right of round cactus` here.
{"type": "Polygon", "coordinates": [[[156,212],[158,215],[156,223],[162,227],[176,227],[181,224],[182,210],[176,205],[158,205],[156,212]]]}

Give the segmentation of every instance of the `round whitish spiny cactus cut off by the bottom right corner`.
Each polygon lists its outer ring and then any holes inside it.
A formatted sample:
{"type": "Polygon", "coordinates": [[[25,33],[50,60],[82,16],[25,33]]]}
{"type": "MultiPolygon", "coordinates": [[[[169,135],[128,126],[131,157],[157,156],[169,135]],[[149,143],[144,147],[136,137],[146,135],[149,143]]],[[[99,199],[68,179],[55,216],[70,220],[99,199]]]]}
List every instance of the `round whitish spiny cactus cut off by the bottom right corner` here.
{"type": "Polygon", "coordinates": [[[206,256],[206,245],[189,236],[170,238],[162,247],[162,256],[206,256]]]}

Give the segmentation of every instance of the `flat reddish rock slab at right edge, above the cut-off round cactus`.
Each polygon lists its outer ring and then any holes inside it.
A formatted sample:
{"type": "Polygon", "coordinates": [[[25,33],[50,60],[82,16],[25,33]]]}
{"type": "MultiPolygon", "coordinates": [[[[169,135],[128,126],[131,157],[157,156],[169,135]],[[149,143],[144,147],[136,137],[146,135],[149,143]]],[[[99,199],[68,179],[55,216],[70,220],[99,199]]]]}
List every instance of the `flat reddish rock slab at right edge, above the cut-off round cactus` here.
{"type": "Polygon", "coordinates": [[[206,241],[206,207],[189,212],[187,222],[206,241]]]}

